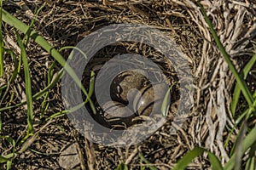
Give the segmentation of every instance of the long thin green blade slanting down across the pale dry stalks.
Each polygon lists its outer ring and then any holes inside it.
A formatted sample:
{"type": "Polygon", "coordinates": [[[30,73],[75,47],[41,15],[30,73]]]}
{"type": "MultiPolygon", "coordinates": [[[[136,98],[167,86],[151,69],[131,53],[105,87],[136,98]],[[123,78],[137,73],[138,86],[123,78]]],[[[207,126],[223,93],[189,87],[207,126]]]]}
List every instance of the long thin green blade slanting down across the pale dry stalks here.
{"type": "Polygon", "coordinates": [[[239,85],[239,87],[241,88],[241,92],[244,95],[245,99],[247,100],[248,105],[251,107],[253,105],[253,96],[250,93],[246,82],[239,76],[238,72],[236,71],[235,66],[232,64],[229,54],[227,54],[223,44],[220,42],[220,40],[218,38],[216,31],[214,31],[211,20],[207,17],[207,13],[206,13],[205,9],[201,5],[201,3],[198,3],[198,5],[201,8],[201,13],[204,16],[204,18],[207,22],[207,25],[209,26],[209,29],[212,33],[212,37],[213,37],[214,41],[216,42],[221,54],[224,56],[225,61],[229,65],[230,71],[233,73],[234,77],[236,77],[236,82],[239,85]]]}

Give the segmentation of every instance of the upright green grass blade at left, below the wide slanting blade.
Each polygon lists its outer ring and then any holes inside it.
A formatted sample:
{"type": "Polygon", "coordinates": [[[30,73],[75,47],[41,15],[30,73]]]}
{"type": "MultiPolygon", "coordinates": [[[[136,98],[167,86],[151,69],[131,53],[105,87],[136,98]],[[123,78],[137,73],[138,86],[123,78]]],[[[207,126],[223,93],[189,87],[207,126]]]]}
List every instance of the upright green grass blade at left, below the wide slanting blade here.
{"type": "Polygon", "coordinates": [[[32,105],[32,85],[31,85],[31,75],[29,72],[29,65],[27,62],[27,58],[26,58],[26,49],[23,45],[23,43],[21,42],[20,39],[20,35],[17,34],[17,41],[18,44],[20,46],[20,54],[21,54],[21,58],[22,58],[22,62],[23,62],[23,66],[24,66],[24,74],[25,74],[25,84],[26,84],[26,105],[27,105],[27,125],[28,125],[28,132],[27,133],[34,133],[34,129],[33,129],[33,105],[32,105]]]}

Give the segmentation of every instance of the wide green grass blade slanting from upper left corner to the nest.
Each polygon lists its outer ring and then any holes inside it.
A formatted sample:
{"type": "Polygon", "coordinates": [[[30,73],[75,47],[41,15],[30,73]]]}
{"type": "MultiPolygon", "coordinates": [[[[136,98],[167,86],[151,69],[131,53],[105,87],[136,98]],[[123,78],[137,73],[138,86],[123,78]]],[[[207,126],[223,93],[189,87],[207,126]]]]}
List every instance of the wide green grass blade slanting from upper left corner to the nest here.
{"type": "MultiPolygon", "coordinates": [[[[73,77],[74,82],[76,82],[79,85],[79,88],[81,88],[82,92],[85,94],[86,97],[88,97],[88,94],[83,86],[83,84],[80,82],[79,77],[77,77],[76,73],[73,71],[72,67],[67,64],[66,60],[61,56],[61,54],[53,48],[49,42],[47,42],[44,37],[38,35],[38,32],[33,31],[29,26],[26,26],[23,22],[16,19],[13,15],[9,14],[7,11],[3,10],[3,21],[9,24],[10,26],[14,26],[18,30],[22,31],[23,33],[29,32],[29,37],[31,37],[35,42],[37,42],[44,50],[46,50],[54,59],[67,71],[67,73],[73,77]]],[[[95,107],[93,107],[93,102],[90,98],[88,98],[90,102],[91,110],[96,113],[95,107]]]]}

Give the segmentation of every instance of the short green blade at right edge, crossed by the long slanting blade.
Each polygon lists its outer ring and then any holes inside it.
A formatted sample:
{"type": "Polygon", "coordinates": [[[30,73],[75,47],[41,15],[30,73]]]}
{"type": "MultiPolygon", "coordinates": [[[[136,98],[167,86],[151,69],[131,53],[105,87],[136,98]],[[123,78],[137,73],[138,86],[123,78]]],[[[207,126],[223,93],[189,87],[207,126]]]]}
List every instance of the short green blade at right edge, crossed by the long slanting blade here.
{"type": "MultiPolygon", "coordinates": [[[[256,54],[253,55],[253,58],[248,61],[247,65],[242,70],[242,74],[243,74],[244,79],[246,79],[249,71],[252,69],[252,67],[255,63],[256,63],[256,54]]],[[[238,103],[238,99],[239,99],[240,94],[241,94],[241,88],[239,87],[238,84],[236,84],[234,94],[233,94],[233,97],[232,97],[232,102],[230,104],[230,111],[232,112],[233,116],[235,116],[236,105],[238,103]]]]}

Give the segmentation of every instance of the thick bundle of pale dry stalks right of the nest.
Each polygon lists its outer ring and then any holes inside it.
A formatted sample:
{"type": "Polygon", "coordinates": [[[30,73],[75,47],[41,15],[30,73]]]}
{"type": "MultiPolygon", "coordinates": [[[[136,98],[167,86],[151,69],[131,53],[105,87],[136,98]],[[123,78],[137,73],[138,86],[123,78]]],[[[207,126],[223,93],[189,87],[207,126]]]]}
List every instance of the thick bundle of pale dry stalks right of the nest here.
{"type": "MultiPolygon", "coordinates": [[[[221,157],[224,163],[229,160],[224,148],[225,127],[234,126],[230,114],[230,91],[234,77],[213,43],[207,23],[196,3],[189,0],[175,2],[188,9],[191,19],[204,37],[202,48],[199,49],[202,54],[201,60],[194,75],[199,79],[196,84],[196,105],[200,114],[193,119],[194,126],[199,127],[200,130],[195,132],[193,142],[210,149],[221,157]]],[[[206,0],[201,1],[201,4],[206,8],[214,29],[231,59],[236,62],[236,57],[242,54],[249,53],[252,56],[253,50],[247,48],[250,40],[255,36],[256,29],[256,17],[252,11],[237,2],[206,0]]],[[[241,69],[239,66],[241,65],[236,65],[237,69],[241,69]]]]}

